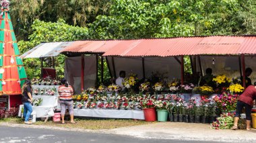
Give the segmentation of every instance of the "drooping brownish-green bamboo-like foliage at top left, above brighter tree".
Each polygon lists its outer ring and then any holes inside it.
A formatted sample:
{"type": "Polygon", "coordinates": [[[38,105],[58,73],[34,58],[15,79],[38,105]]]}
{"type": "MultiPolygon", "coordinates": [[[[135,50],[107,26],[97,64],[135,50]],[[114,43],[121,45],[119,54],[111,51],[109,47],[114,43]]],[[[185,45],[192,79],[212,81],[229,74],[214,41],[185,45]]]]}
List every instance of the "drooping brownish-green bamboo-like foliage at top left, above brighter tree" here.
{"type": "Polygon", "coordinates": [[[35,19],[56,22],[64,19],[86,27],[97,15],[107,15],[110,0],[11,0],[11,18],[18,40],[28,40],[35,19]]]}

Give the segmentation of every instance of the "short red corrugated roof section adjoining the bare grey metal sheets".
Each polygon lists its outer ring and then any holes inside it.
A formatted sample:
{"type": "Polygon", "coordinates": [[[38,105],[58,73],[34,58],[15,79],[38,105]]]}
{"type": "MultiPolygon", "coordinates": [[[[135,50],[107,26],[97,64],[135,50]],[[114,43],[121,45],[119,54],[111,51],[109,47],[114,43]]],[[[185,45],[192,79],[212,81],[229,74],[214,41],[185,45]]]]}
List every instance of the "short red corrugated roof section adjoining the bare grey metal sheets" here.
{"type": "Polygon", "coordinates": [[[67,46],[65,50],[61,52],[98,52],[104,53],[110,48],[119,44],[121,40],[85,40],[75,41],[71,46],[67,46]]]}

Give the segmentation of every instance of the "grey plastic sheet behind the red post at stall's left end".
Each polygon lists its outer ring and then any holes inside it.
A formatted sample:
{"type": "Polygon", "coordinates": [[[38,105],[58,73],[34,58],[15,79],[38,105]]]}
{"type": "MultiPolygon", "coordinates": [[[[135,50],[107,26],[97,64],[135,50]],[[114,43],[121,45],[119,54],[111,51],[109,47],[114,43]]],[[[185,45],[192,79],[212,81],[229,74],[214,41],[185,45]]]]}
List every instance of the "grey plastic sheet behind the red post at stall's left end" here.
{"type": "MultiPolygon", "coordinates": [[[[84,89],[95,87],[96,83],[96,55],[84,56],[84,89]]],[[[65,79],[71,85],[75,94],[81,93],[81,56],[67,57],[65,59],[65,79]]]]}

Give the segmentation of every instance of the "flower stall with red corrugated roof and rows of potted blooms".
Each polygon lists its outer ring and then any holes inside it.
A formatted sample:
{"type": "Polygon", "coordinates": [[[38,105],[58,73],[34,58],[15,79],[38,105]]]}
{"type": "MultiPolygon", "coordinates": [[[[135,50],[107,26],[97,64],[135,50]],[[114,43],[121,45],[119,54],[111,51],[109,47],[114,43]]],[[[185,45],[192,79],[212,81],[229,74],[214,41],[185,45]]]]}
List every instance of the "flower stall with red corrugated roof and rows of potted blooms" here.
{"type": "MultiPolygon", "coordinates": [[[[172,122],[196,123],[210,123],[221,113],[222,117],[229,117],[231,114],[223,113],[234,111],[236,99],[244,90],[241,84],[245,83],[232,77],[245,76],[245,63],[249,65],[253,60],[251,56],[244,55],[251,53],[250,51],[243,52],[247,50],[245,45],[248,45],[247,39],[250,38],[255,37],[210,36],[74,42],[62,50],[62,53],[77,56],[73,59],[69,57],[73,62],[66,61],[67,68],[76,71],[66,72],[65,77],[71,77],[68,81],[77,87],[76,90],[85,89],[73,96],[75,115],[134,119],[143,119],[144,116],[148,121],[160,117],[160,122],[166,121],[169,115],[172,122]],[[222,50],[224,44],[227,49],[222,50]],[[90,67],[90,64],[84,60],[84,54],[106,56],[113,77],[117,77],[120,70],[125,70],[128,75],[123,81],[125,88],[120,89],[117,85],[85,86],[91,81],[88,81],[90,78],[85,78],[85,74],[90,73],[89,70],[85,72],[85,67],[90,67]],[[191,56],[192,78],[185,77],[184,56],[191,56]],[[74,60],[75,58],[77,59],[74,60]],[[205,75],[206,68],[214,70],[215,76],[211,80],[213,85],[199,85],[199,78],[191,80],[197,77],[197,73],[205,75]],[[73,74],[77,76],[76,79],[73,74]]],[[[253,54],[255,53],[251,53],[253,54]]],[[[98,58],[94,58],[94,63],[97,64],[97,60],[98,58]]],[[[92,66],[91,69],[96,68],[92,66]]]]}

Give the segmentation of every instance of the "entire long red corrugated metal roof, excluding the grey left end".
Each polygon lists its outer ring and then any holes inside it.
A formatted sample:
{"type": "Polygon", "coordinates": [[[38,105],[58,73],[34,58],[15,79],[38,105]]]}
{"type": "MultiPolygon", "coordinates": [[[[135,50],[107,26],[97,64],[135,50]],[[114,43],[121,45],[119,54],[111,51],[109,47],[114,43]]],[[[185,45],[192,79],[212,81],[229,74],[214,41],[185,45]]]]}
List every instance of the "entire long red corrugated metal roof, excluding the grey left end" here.
{"type": "Polygon", "coordinates": [[[256,54],[256,36],[209,36],[139,40],[75,41],[61,52],[104,53],[103,56],[181,56],[256,54]]]}

